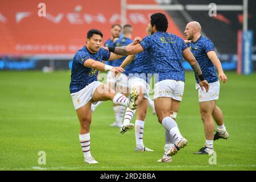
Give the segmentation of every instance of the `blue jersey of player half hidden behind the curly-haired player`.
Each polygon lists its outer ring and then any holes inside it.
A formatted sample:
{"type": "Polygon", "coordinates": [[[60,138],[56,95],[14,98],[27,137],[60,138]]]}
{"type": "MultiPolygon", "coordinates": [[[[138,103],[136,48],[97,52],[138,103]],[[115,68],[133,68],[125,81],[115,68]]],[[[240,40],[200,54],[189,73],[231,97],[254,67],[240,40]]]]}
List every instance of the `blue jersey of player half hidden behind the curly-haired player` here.
{"type": "Polygon", "coordinates": [[[132,74],[129,74],[129,79],[139,77],[149,84],[153,73],[153,63],[148,51],[137,53],[133,63],[132,74]]]}

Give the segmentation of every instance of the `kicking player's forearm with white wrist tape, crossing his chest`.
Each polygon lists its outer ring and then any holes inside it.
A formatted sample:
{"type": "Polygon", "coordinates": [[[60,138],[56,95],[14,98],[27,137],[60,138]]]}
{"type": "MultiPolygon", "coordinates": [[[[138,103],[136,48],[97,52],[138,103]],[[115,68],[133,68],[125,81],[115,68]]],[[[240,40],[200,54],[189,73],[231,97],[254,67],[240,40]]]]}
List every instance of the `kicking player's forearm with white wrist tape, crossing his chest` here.
{"type": "Polygon", "coordinates": [[[100,61],[95,61],[93,59],[88,59],[84,62],[84,66],[88,68],[97,69],[98,71],[111,71],[114,73],[122,73],[125,70],[121,67],[112,67],[101,63],[100,61]]]}

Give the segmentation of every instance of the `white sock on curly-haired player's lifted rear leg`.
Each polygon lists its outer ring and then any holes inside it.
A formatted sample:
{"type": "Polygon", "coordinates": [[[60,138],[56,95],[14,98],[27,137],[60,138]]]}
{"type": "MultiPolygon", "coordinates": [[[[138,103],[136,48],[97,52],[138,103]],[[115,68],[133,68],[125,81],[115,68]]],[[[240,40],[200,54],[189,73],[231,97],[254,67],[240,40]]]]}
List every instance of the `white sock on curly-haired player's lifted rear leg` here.
{"type": "Polygon", "coordinates": [[[179,128],[177,127],[177,123],[171,117],[163,118],[162,125],[170,132],[171,137],[174,138],[174,142],[182,138],[179,128]]]}

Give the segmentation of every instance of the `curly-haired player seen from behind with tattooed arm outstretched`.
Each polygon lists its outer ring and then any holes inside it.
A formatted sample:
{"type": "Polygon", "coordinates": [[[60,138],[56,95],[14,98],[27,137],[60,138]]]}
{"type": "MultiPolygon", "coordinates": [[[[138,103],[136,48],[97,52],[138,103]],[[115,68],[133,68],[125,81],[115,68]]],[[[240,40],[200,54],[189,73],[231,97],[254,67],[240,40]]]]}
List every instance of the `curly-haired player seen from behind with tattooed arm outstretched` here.
{"type": "Polygon", "coordinates": [[[120,55],[135,55],[142,51],[150,53],[154,73],[156,73],[154,88],[156,115],[159,123],[167,130],[166,144],[171,143],[169,146],[165,146],[164,156],[159,162],[171,162],[171,156],[175,155],[180,148],[187,146],[188,143],[187,139],[180,134],[177,123],[173,119],[176,118],[184,91],[183,57],[188,60],[199,77],[201,89],[208,90],[209,84],[183,39],[166,32],[168,28],[166,15],[152,14],[150,24],[152,35],[144,38],[140,44],[129,47],[108,47],[108,49],[120,55]]]}

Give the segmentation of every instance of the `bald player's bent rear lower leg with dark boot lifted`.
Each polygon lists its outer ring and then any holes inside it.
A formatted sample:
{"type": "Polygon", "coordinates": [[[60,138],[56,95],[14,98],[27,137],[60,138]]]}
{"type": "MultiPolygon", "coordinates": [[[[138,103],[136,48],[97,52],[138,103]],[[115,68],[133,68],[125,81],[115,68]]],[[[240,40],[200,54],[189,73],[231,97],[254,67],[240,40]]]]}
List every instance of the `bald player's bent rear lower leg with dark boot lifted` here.
{"type": "Polygon", "coordinates": [[[215,105],[213,109],[212,117],[217,123],[217,131],[214,134],[213,140],[218,140],[219,138],[228,139],[229,134],[228,131],[226,131],[226,127],[224,125],[223,114],[221,109],[217,105],[215,105]]]}

